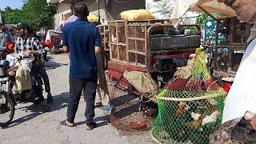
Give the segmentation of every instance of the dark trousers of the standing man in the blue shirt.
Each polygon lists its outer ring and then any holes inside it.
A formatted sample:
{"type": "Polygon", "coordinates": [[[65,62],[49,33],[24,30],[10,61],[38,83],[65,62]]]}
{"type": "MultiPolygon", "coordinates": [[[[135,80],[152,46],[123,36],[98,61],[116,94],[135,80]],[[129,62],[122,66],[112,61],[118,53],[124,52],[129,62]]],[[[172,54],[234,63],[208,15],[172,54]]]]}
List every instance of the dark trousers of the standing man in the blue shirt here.
{"type": "Polygon", "coordinates": [[[71,78],[70,77],[70,99],[67,107],[67,121],[74,123],[74,117],[78,110],[82,89],[86,88],[86,125],[90,126],[95,116],[94,102],[96,97],[96,78],[71,78]]]}

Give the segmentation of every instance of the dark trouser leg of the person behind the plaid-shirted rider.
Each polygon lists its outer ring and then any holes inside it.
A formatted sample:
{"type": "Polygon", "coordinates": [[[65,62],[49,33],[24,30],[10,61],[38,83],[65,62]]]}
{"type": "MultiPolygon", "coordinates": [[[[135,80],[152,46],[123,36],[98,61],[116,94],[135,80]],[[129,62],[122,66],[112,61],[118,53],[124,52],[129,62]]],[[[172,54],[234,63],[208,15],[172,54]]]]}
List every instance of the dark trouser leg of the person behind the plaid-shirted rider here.
{"type": "Polygon", "coordinates": [[[46,68],[42,62],[38,62],[38,74],[41,75],[43,83],[45,85],[46,93],[50,93],[50,81],[48,74],[46,73],[46,68]]]}

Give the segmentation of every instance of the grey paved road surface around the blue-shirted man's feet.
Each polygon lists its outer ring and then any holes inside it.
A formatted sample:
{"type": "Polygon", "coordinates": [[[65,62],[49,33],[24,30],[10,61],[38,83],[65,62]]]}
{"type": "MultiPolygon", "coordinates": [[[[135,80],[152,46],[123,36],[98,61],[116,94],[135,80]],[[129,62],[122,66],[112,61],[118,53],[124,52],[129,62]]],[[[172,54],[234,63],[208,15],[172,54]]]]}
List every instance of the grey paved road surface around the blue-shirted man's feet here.
{"type": "MultiPolygon", "coordinates": [[[[0,143],[154,143],[150,139],[150,132],[124,134],[114,126],[108,125],[103,110],[95,110],[95,122],[98,128],[87,131],[84,117],[85,102],[80,102],[75,122],[78,126],[70,128],[61,126],[60,122],[66,118],[66,106],[69,97],[68,58],[66,54],[50,55],[50,62],[46,62],[47,73],[50,77],[54,103],[50,105],[50,112],[40,113],[40,106],[31,103],[20,104],[16,108],[14,122],[0,130],[0,143]]],[[[45,94],[46,95],[46,94],[45,94]]]]}

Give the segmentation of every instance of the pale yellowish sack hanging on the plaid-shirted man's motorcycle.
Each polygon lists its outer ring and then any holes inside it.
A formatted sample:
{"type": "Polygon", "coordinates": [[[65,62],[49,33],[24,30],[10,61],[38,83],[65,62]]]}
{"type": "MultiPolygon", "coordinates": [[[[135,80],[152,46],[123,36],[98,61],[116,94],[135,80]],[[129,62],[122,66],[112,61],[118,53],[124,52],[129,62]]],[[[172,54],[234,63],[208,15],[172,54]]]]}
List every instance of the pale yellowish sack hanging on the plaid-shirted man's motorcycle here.
{"type": "Polygon", "coordinates": [[[16,85],[18,91],[23,90],[31,90],[32,83],[30,78],[30,71],[26,69],[25,66],[18,66],[18,70],[16,71],[16,85]]]}

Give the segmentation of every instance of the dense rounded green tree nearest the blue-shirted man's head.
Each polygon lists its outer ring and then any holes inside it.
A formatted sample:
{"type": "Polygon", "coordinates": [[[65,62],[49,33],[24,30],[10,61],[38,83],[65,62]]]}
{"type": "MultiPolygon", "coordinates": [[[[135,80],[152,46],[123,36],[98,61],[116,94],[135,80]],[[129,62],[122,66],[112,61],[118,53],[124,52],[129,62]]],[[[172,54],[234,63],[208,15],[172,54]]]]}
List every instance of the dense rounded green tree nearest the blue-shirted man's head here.
{"type": "Polygon", "coordinates": [[[26,0],[22,7],[22,21],[34,29],[52,27],[55,13],[56,7],[48,5],[46,0],[26,0]]]}

